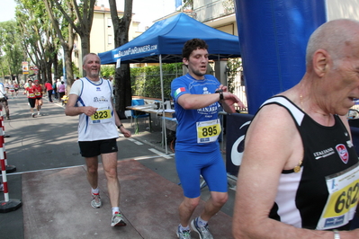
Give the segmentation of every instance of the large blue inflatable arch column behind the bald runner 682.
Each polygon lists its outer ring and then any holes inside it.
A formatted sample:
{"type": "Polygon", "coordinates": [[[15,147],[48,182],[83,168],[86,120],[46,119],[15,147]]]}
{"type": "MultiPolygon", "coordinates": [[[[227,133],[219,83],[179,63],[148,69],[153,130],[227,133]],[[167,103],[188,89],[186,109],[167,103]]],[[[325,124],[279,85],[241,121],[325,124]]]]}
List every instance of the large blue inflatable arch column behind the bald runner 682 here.
{"type": "Polygon", "coordinates": [[[324,0],[236,0],[248,112],[298,84],[310,34],[327,22],[324,0]]]}

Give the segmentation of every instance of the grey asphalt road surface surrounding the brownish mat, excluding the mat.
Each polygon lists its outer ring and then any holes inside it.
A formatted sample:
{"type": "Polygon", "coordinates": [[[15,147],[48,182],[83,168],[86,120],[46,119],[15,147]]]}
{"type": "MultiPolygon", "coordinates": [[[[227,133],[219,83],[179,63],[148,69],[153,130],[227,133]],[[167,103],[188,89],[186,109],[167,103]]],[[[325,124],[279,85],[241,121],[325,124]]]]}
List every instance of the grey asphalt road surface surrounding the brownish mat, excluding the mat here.
{"type": "MultiPolygon", "coordinates": [[[[84,165],[84,159],[79,155],[77,145],[77,117],[66,116],[61,103],[49,103],[44,98],[41,115],[31,118],[27,99],[21,92],[18,97],[9,99],[9,108],[11,120],[4,121],[5,134],[10,136],[5,138],[5,151],[7,164],[16,167],[15,172],[7,173],[11,200],[22,201],[24,198],[22,192],[28,190],[22,189],[24,175],[28,177],[29,173],[43,173],[84,165]]],[[[130,138],[120,135],[117,140],[118,160],[135,159],[166,180],[178,184],[174,155],[170,150],[166,155],[161,146],[160,120],[156,117],[152,117],[152,120],[152,132],[148,132],[147,124],[140,120],[139,135],[130,138]]],[[[122,123],[126,128],[130,128],[132,134],[134,133],[130,120],[122,120],[122,123]]],[[[208,191],[206,189],[202,191],[202,199],[208,199],[208,191]]],[[[229,202],[222,208],[222,211],[230,217],[234,194],[234,190],[229,190],[229,202]]],[[[0,193],[0,200],[4,200],[3,193],[0,193]]],[[[24,203],[27,202],[22,201],[22,205],[24,203]]],[[[1,238],[27,238],[24,235],[22,208],[0,213],[1,238]]]]}

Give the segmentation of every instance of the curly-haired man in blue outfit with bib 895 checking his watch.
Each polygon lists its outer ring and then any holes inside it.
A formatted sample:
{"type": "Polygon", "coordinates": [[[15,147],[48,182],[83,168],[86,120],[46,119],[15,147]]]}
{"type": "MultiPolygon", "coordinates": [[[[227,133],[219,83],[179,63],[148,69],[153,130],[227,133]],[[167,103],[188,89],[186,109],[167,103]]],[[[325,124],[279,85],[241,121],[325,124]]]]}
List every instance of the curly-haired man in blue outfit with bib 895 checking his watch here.
{"type": "Polygon", "coordinates": [[[244,108],[238,97],[228,92],[213,75],[205,75],[208,66],[208,46],[204,40],[188,40],[184,44],[183,62],[188,74],[171,84],[178,121],[175,143],[175,164],[184,200],[179,206],[181,224],[179,238],[191,238],[190,218],[200,202],[200,175],[211,191],[200,217],[191,222],[201,239],[213,238],[208,221],[228,199],[227,173],[220,154],[218,137],[220,104],[224,111],[235,112],[234,104],[244,108]],[[216,93],[217,92],[217,93],[216,93]]]}

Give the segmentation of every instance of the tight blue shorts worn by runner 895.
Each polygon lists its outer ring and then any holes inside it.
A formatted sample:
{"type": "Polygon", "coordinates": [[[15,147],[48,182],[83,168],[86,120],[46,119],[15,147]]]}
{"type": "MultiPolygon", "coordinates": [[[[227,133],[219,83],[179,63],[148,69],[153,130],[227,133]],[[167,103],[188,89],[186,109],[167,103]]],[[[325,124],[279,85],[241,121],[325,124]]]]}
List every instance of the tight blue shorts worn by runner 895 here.
{"type": "Polygon", "coordinates": [[[220,150],[211,153],[175,151],[175,167],[184,190],[190,199],[201,196],[200,175],[210,191],[227,192],[227,173],[220,150]]]}

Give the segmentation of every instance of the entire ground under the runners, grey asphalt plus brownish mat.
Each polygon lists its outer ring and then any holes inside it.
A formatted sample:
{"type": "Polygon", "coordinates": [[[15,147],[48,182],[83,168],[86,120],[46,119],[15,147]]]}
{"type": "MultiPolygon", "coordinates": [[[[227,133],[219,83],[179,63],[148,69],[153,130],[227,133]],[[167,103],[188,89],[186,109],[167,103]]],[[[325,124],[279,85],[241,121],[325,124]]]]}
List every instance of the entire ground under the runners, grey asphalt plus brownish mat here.
{"type": "MultiPolygon", "coordinates": [[[[57,103],[44,99],[41,116],[32,119],[24,95],[9,100],[11,119],[4,121],[10,199],[22,208],[0,213],[1,238],[176,238],[177,208],[182,200],[174,155],[164,154],[161,128],[152,117],[152,132],[139,119],[139,135],[118,139],[121,210],[128,226],[113,228],[103,169],[99,184],[103,208],[90,206],[90,187],[79,155],[77,117],[67,117],[57,103]]],[[[130,120],[122,120],[126,128],[130,120]]],[[[208,199],[207,188],[202,199],[208,199]]],[[[3,200],[3,194],[0,193],[3,200]]],[[[229,202],[211,220],[215,238],[231,236],[234,191],[229,202]]],[[[203,207],[203,201],[200,208],[203,207]]],[[[198,238],[195,233],[193,238],[198,238]]]]}

